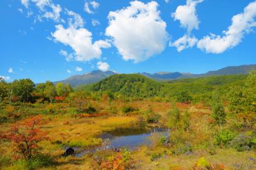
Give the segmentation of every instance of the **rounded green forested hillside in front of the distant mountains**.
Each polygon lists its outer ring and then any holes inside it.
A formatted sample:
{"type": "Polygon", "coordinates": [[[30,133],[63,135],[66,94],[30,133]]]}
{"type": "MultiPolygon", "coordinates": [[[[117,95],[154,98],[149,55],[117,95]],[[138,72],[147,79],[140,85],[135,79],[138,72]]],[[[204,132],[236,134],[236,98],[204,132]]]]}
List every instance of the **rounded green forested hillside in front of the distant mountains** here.
{"type": "Polygon", "coordinates": [[[116,96],[131,98],[159,97],[165,100],[177,100],[182,93],[189,95],[193,101],[204,101],[216,90],[221,95],[230,90],[230,86],[243,86],[247,75],[219,75],[202,78],[188,78],[175,81],[154,81],[143,75],[113,75],[95,84],[79,86],[78,91],[111,92],[116,96]]]}

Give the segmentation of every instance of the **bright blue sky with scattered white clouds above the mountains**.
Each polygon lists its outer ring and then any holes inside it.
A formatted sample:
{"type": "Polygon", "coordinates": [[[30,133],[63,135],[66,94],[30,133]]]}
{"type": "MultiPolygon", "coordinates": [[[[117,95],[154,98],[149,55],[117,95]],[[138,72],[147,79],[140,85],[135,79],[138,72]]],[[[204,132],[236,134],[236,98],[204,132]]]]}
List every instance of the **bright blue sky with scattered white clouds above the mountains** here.
{"type": "Polygon", "coordinates": [[[6,81],[256,63],[256,1],[3,0],[0,16],[6,81]]]}

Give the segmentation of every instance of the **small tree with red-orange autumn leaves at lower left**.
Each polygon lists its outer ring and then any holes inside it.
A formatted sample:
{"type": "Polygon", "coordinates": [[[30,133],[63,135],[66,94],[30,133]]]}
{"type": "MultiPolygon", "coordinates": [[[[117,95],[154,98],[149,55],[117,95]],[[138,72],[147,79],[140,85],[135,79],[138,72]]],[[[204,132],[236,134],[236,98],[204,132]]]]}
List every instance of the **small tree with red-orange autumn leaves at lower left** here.
{"type": "Polygon", "coordinates": [[[2,133],[2,139],[12,141],[15,151],[25,159],[31,159],[38,149],[37,143],[45,139],[45,134],[36,126],[40,124],[41,117],[31,117],[24,123],[16,123],[10,130],[2,133]]]}

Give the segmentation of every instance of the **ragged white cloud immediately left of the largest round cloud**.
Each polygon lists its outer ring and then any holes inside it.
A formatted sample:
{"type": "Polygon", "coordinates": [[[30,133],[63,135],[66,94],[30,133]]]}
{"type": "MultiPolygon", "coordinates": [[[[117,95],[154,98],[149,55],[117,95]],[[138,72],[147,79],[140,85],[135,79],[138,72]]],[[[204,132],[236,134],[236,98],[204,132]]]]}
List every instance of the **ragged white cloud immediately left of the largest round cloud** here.
{"type": "MultiPolygon", "coordinates": [[[[75,58],[76,61],[90,61],[91,59],[100,58],[102,48],[109,48],[111,45],[104,40],[92,42],[92,33],[83,26],[83,19],[79,14],[69,12],[74,19],[69,19],[68,27],[58,25],[56,31],[52,33],[55,42],[61,42],[64,45],[69,45],[75,51],[70,59],[75,58]]],[[[63,53],[63,52],[62,52],[63,53]]],[[[67,54],[63,54],[67,56],[67,54]]],[[[67,57],[66,57],[67,59],[67,57]]],[[[69,58],[68,58],[69,60],[69,58]]]]}

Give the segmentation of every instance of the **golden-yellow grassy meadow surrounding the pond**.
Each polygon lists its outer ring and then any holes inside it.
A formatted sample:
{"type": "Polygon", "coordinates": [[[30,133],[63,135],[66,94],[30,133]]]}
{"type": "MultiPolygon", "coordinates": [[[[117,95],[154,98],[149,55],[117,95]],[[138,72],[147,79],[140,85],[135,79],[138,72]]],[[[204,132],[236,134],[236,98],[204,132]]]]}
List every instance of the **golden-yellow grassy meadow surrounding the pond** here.
{"type": "MultiPolygon", "coordinates": [[[[102,108],[108,107],[108,105],[108,102],[99,103],[99,107],[102,108]]],[[[115,116],[106,114],[95,118],[79,117],[68,112],[43,114],[43,123],[39,128],[47,134],[48,140],[38,144],[41,148],[42,157],[39,158],[38,162],[34,162],[36,169],[100,169],[103,160],[113,161],[119,153],[111,150],[98,151],[86,154],[81,158],[65,158],[61,157],[65,151],[63,146],[92,148],[100,146],[102,139],[99,138],[99,135],[102,132],[114,132],[120,129],[138,130],[152,125],[168,126],[168,112],[172,109],[169,102],[147,100],[125,103],[114,101],[111,105],[120,105],[120,108],[125,105],[132,105],[136,111],[124,113],[122,109],[117,109],[115,116]],[[147,123],[144,127],[143,123],[140,122],[140,116],[148,108],[152,108],[152,112],[159,113],[161,118],[159,123],[147,123]],[[101,159],[98,160],[99,166],[95,167],[95,159],[99,159],[99,157],[101,159]]],[[[218,131],[219,127],[209,125],[211,123],[211,108],[208,105],[202,103],[177,103],[176,105],[181,116],[183,116],[184,111],[188,111],[191,116],[189,132],[173,131],[170,137],[173,144],[170,147],[161,145],[158,136],[154,139],[154,146],[141,146],[138,150],[129,151],[130,163],[127,167],[129,166],[131,169],[191,169],[200,158],[204,157],[207,164],[221,165],[225,169],[256,168],[254,151],[239,152],[234,148],[218,148],[214,145],[213,128],[218,131]],[[210,147],[211,144],[214,145],[212,148],[210,147]]],[[[58,107],[58,104],[54,104],[52,107],[58,107]]],[[[64,112],[65,109],[67,108],[63,104],[60,112],[64,112]]],[[[20,120],[20,123],[22,121],[24,120],[20,120]]],[[[4,123],[1,125],[1,129],[6,130],[13,123],[4,123]]],[[[226,126],[232,126],[233,123],[232,119],[228,119],[226,126]]],[[[1,142],[1,161],[4,161],[4,158],[12,157],[13,153],[10,147],[12,146],[8,141],[1,142]]],[[[7,163],[8,166],[2,163],[2,169],[27,169],[26,164],[22,161],[7,161],[7,163]]]]}

